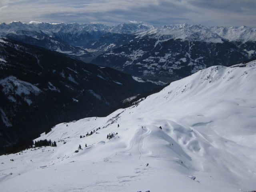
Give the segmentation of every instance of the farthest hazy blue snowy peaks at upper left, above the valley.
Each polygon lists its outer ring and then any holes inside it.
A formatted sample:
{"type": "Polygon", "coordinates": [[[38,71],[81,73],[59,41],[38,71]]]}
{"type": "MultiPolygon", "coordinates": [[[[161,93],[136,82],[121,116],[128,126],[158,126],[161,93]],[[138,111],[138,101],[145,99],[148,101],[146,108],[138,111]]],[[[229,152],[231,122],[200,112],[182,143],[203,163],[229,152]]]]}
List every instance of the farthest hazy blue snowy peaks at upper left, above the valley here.
{"type": "MultiPolygon", "coordinates": [[[[47,35],[53,40],[58,39],[69,45],[82,46],[91,40],[97,40],[107,33],[112,34],[133,34],[153,28],[151,25],[139,24],[119,24],[118,26],[106,26],[104,24],[78,24],[78,23],[60,23],[50,24],[41,22],[30,22],[25,24],[21,22],[11,22],[10,24],[0,24],[0,35],[16,34],[32,36],[28,33],[34,32],[47,35]]],[[[35,36],[35,35],[34,35],[35,36]]]]}

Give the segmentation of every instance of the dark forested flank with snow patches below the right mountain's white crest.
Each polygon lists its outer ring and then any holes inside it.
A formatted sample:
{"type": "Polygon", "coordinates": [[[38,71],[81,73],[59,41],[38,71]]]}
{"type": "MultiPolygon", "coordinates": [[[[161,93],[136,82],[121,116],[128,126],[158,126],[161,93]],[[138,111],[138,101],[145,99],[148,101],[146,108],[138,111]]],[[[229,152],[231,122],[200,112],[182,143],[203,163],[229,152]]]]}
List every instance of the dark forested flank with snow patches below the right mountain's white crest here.
{"type": "Polygon", "coordinates": [[[255,42],[204,42],[154,36],[105,52],[92,60],[136,76],[177,80],[214,65],[230,66],[256,58],[255,42]],[[248,54],[246,49],[253,50],[248,54]]]}

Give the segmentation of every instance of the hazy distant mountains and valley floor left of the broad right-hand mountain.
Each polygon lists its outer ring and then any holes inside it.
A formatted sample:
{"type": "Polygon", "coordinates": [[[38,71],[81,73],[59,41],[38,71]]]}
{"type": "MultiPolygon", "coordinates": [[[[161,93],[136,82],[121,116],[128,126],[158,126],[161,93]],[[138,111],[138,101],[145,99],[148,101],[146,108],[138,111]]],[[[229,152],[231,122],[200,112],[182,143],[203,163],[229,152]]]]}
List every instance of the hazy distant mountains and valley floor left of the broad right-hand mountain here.
{"type": "Polygon", "coordinates": [[[127,40],[123,42],[123,39],[126,39],[128,34],[144,31],[150,27],[152,26],[146,24],[106,26],[104,24],[93,23],[25,24],[11,22],[10,24],[0,24],[0,36],[41,46],[49,50],[62,52],[74,58],[82,59],[94,56],[86,51],[86,49],[95,49],[97,52],[109,50],[113,47],[112,45],[116,40],[120,39],[119,45],[126,44],[127,40]],[[106,40],[106,38],[109,39],[106,40]],[[95,44],[98,40],[100,42],[95,44]]]}

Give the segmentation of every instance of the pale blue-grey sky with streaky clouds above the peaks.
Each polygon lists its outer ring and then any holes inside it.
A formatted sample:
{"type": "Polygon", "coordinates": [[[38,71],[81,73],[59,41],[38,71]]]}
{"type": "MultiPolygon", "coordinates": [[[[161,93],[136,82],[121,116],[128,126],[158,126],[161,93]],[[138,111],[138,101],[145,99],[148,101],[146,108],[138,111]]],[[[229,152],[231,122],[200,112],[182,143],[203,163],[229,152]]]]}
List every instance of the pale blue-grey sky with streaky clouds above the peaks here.
{"type": "Polygon", "coordinates": [[[0,0],[0,23],[32,20],[256,27],[256,0],[0,0]]]}

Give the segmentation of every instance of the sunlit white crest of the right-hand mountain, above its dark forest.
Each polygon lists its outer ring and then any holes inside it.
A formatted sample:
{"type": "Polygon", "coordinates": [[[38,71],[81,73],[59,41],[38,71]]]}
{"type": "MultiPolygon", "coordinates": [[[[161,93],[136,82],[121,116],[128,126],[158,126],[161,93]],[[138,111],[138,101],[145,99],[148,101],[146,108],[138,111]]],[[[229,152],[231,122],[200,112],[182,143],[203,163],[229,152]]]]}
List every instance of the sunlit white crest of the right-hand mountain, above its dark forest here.
{"type": "Polygon", "coordinates": [[[242,27],[212,27],[202,25],[176,24],[160,26],[139,34],[139,36],[154,35],[158,38],[173,38],[182,40],[196,40],[206,42],[255,41],[256,28],[242,27]]]}

